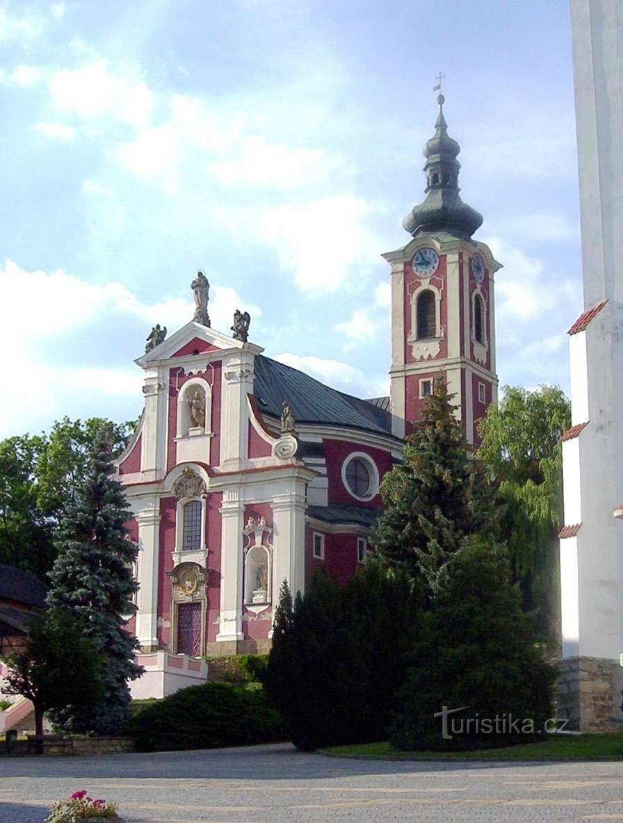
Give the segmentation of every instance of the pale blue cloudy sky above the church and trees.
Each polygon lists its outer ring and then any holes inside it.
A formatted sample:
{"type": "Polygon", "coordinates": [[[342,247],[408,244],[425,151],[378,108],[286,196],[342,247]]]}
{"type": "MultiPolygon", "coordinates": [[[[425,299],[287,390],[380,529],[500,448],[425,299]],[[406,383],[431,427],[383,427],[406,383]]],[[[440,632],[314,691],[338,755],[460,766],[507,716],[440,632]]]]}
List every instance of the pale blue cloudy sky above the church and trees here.
{"type": "Polygon", "coordinates": [[[568,388],[582,309],[560,0],[0,2],[0,436],[142,407],[154,323],[388,393],[388,266],[444,112],[497,277],[501,384],[568,388]],[[9,376],[10,375],[10,376],[9,376]]]}

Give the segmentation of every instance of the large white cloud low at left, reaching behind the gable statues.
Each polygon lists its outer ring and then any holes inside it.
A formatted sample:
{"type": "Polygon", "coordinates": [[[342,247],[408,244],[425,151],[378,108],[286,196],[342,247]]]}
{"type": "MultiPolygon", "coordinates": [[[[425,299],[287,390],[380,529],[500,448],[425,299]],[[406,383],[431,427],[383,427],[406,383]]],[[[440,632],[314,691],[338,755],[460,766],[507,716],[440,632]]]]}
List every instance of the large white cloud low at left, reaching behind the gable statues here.
{"type": "MultiPolygon", "coordinates": [[[[236,308],[261,316],[232,288],[217,286],[212,297],[212,325],[222,332],[229,333],[236,308]]],[[[150,305],[119,283],[87,283],[62,269],[27,272],[7,260],[0,267],[0,347],[11,352],[12,379],[0,384],[0,437],[63,414],[116,417],[128,400],[140,407],[143,375],[132,360],[144,337],[156,322],[176,331],[193,310],[181,297],[150,305]]]]}

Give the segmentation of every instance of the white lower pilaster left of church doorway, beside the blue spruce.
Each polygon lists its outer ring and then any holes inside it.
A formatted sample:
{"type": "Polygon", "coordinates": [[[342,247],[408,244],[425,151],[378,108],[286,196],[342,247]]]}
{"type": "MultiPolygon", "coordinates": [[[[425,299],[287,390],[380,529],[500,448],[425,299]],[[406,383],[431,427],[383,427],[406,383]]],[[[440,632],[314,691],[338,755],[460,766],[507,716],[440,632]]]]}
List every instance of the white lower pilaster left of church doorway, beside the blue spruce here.
{"type": "Polygon", "coordinates": [[[158,647],[158,555],[160,551],[160,500],[142,498],[143,508],[137,511],[138,583],[136,635],[141,651],[158,647]]]}

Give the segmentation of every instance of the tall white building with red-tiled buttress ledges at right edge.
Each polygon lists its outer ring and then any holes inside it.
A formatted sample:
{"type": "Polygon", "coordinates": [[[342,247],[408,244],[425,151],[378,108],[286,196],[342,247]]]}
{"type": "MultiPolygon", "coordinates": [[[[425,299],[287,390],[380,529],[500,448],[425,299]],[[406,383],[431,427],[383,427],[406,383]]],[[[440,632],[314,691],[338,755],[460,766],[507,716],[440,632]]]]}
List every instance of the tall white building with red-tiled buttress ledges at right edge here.
{"type": "Polygon", "coordinates": [[[623,2],[571,0],[571,23],[585,310],[569,332],[559,716],[588,732],[623,723],[623,2]]]}

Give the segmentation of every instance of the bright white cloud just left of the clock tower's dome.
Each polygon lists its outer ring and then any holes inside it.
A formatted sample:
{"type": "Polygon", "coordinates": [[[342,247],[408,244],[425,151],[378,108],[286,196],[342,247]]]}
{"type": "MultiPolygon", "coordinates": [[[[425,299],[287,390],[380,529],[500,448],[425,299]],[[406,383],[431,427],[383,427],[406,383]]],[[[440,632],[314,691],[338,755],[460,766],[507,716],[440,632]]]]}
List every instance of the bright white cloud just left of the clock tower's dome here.
{"type": "Polygon", "coordinates": [[[276,250],[281,271],[301,288],[336,291],[377,262],[379,241],[366,225],[371,212],[369,203],[347,193],[267,207],[249,219],[255,239],[276,250]]]}

